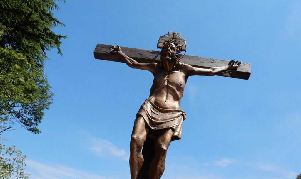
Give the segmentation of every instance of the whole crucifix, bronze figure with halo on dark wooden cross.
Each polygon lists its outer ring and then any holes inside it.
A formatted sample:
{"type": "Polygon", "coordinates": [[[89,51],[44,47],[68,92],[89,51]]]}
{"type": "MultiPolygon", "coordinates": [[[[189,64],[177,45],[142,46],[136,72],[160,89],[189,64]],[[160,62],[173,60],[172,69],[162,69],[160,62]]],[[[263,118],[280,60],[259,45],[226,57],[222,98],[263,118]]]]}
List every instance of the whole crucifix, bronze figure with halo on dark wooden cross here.
{"type": "Polygon", "coordinates": [[[186,40],[180,35],[169,32],[161,36],[157,44],[162,48],[159,53],[118,44],[117,47],[98,44],[95,48],[96,59],[125,62],[131,68],[147,70],[154,75],[150,96],[141,105],[132,130],[131,179],[161,178],[169,144],[181,139],[186,114],[180,110],[180,103],[189,76],[220,75],[241,79],[250,76],[247,63],[180,55],[186,50],[186,40]]]}

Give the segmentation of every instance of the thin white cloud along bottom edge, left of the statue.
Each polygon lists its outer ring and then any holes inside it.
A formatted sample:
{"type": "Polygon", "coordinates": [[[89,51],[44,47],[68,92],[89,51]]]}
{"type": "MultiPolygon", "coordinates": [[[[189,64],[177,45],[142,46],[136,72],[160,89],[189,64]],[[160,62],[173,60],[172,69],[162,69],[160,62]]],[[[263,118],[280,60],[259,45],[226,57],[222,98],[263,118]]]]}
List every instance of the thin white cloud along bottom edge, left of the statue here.
{"type": "Polygon", "coordinates": [[[51,166],[29,159],[26,160],[26,167],[32,174],[30,178],[33,179],[110,179],[63,165],[51,166]]]}

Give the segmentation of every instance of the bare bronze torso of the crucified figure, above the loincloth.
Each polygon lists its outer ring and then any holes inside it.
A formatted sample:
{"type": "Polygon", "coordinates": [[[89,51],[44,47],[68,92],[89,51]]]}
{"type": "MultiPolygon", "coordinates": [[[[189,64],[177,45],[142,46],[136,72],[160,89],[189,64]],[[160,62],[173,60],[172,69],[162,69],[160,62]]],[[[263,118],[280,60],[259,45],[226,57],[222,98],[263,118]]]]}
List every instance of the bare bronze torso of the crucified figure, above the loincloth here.
{"type": "Polygon", "coordinates": [[[163,109],[180,109],[180,102],[183,97],[186,73],[178,65],[170,73],[163,69],[156,68],[151,93],[148,100],[163,109]]]}

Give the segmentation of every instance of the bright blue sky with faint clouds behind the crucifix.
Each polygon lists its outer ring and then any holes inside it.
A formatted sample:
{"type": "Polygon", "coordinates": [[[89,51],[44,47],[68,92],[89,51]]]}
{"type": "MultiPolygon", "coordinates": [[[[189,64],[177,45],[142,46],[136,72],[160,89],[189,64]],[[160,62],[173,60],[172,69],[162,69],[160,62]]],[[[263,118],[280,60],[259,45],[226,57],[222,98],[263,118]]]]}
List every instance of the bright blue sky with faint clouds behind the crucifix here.
{"type": "Polygon", "coordinates": [[[301,2],[79,1],[55,12],[68,35],[45,64],[52,92],[41,134],[3,137],[27,156],[33,179],[124,179],[129,141],[152,74],[94,59],[96,44],[156,50],[169,31],[188,55],[251,64],[249,80],[189,77],[182,139],[162,179],[295,179],[301,173],[301,2]]]}

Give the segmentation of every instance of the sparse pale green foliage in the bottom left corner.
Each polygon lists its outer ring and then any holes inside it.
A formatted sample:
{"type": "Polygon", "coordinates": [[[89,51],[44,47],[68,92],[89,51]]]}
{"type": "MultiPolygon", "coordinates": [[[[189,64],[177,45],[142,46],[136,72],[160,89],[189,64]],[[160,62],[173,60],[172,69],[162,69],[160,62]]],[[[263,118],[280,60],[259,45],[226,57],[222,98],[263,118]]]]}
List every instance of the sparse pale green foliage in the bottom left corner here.
{"type": "Polygon", "coordinates": [[[29,174],[24,171],[25,158],[20,150],[16,150],[16,146],[5,147],[0,143],[0,178],[9,179],[14,175],[17,179],[28,179],[29,174]]]}

